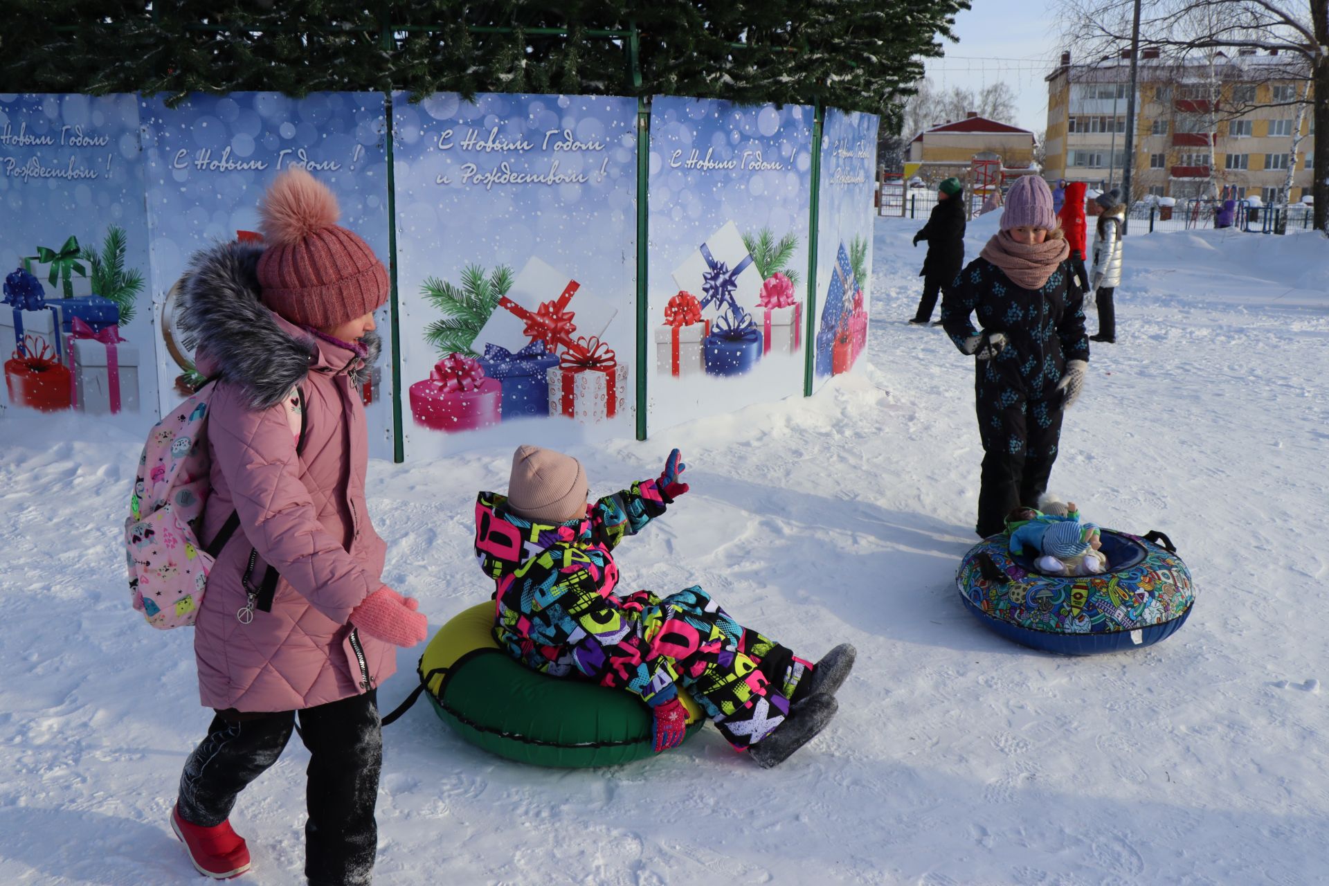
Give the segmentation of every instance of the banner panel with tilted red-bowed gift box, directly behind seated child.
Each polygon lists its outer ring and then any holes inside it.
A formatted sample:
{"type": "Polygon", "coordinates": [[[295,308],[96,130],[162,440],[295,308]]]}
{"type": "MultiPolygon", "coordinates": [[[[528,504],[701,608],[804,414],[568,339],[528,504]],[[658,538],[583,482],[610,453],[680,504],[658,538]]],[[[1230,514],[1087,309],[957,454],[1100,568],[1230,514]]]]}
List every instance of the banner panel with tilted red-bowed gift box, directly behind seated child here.
{"type": "Polygon", "coordinates": [[[403,438],[635,430],[637,101],[393,97],[403,438]]]}

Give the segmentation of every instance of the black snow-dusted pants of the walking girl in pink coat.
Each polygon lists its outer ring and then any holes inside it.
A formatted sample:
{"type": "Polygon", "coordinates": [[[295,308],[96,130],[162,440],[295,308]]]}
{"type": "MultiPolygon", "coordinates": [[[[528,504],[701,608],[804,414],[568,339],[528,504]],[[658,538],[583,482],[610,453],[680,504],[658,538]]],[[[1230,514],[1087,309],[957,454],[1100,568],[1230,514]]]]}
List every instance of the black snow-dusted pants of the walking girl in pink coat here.
{"type": "Polygon", "coordinates": [[[302,711],[218,711],[185,761],[179,814],[211,828],[226,821],[239,793],[276,758],[300,717],[310,749],[306,770],[304,875],[310,886],[363,886],[373,877],[379,829],[373,808],[383,768],[375,691],[302,711]]]}

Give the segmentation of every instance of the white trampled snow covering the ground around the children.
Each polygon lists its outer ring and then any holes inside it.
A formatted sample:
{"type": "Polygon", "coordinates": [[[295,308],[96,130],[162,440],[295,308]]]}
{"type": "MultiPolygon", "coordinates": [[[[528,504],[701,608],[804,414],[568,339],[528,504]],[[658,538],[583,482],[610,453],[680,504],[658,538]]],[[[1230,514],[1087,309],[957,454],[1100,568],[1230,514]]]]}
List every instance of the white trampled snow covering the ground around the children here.
{"type": "MultiPolygon", "coordinates": [[[[514,765],[419,704],[385,732],[380,883],[1314,883],[1329,879],[1329,244],[1127,240],[1116,345],[1094,345],[1053,487],[1176,542],[1199,588],[1172,639],[1091,659],[986,632],[954,569],[981,450],[971,363],[914,328],[918,223],[880,219],[870,367],[815,399],[579,449],[593,491],[692,491],[621,551],[626,583],[698,582],[740,620],[859,665],[831,728],[773,770],[711,729],[607,770],[514,765]]],[[[969,255],[994,228],[970,224],[969,255]]],[[[1091,319],[1092,328],[1092,319],[1091,319]]],[[[0,421],[0,882],[197,882],[166,824],[209,721],[191,635],[130,611],[129,422],[0,421]]],[[[432,627],[488,596],[477,489],[510,452],[373,462],[385,580],[432,627]]],[[[399,655],[384,709],[412,685],[399,655]]],[[[298,883],[306,752],[242,798],[254,870],[298,883]]]]}

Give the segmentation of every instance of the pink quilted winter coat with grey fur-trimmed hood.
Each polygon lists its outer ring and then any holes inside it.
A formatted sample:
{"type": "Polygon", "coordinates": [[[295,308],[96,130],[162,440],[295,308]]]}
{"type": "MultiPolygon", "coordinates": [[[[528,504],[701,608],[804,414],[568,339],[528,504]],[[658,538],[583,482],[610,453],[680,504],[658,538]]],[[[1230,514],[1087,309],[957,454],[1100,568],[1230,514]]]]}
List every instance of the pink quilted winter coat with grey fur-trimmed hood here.
{"type": "MultiPolygon", "coordinates": [[[[381,587],[385,545],[364,501],[368,438],[352,387],[377,356],[312,336],[258,300],[260,246],[227,243],[195,256],[181,287],[181,325],[206,376],[221,373],[207,438],[211,495],[199,539],[209,545],[231,511],[239,530],[217,558],[194,628],[199,696],[210,708],[290,711],[376,688],[396,669],[396,650],[347,623],[381,587]],[[287,418],[288,395],[304,402],[304,444],[287,418]],[[253,620],[242,576],[259,588],[280,575],[253,620]]],[[[295,424],[298,425],[298,417],[295,424]]]]}

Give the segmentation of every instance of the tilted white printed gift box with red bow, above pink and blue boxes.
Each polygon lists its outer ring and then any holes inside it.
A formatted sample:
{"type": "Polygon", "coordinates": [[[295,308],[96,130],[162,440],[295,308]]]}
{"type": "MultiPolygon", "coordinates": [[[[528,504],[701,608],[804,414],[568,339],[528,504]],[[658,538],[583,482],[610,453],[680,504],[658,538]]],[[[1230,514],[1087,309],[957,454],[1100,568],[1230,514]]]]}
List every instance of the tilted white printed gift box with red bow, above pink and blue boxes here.
{"type": "Polygon", "coordinates": [[[577,280],[532,258],[470,347],[481,352],[486,344],[497,344],[517,353],[532,341],[544,341],[550,351],[561,352],[573,344],[574,336],[602,335],[617,313],[617,306],[585,292],[577,280]]]}

